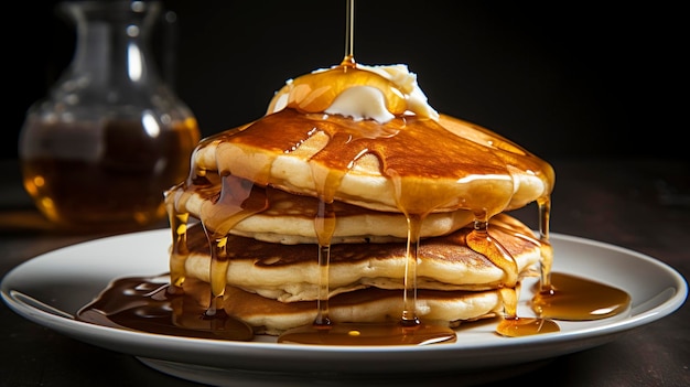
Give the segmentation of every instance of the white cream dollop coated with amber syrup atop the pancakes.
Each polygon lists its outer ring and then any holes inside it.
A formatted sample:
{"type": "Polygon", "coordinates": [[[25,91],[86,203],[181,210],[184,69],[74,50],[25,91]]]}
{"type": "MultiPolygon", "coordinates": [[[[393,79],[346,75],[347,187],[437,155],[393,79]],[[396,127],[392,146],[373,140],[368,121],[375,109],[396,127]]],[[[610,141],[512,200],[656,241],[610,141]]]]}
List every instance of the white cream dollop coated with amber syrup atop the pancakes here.
{"type": "Polygon", "coordinates": [[[288,79],[271,99],[267,114],[285,107],[380,123],[401,115],[439,119],[417,83],[417,74],[403,64],[341,64],[288,79]]]}

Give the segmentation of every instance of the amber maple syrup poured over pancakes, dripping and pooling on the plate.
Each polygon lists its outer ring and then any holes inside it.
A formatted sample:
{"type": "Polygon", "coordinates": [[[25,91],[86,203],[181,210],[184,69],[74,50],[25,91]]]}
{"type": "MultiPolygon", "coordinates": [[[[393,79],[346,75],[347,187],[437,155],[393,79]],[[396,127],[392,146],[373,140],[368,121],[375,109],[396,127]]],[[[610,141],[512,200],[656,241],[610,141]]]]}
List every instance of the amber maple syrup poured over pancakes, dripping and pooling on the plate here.
{"type": "MultiPolygon", "coordinates": [[[[311,105],[293,100],[300,108],[288,105],[281,111],[241,129],[207,138],[197,146],[198,150],[227,141],[246,144],[248,149],[277,149],[280,151],[278,153],[289,154],[295,149],[295,143],[301,143],[313,133],[314,128],[324,131],[330,139],[310,161],[317,198],[317,208],[313,212],[317,236],[313,254],[320,269],[316,316],[311,324],[284,332],[277,338],[278,342],[328,345],[427,345],[456,342],[454,330],[448,325],[425,322],[419,319],[416,311],[416,265],[419,245],[424,243],[420,238],[420,228],[429,213],[448,206],[472,211],[475,221],[463,240],[504,272],[504,288],[500,289],[504,315],[499,318],[497,334],[513,337],[553,333],[560,330],[556,320],[595,320],[624,311],[630,301],[625,292],[603,283],[551,272],[553,251],[549,243],[549,194],[554,176],[548,163],[489,131],[483,132],[486,142],[482,144],[476,138],[468,140],[452,136],[434,120],[423,117],[398,116],[386,126],[379,126],[370,121],[354,122],[337,117],[324,119],[309,114],[312,109],[319,110],[331,105],[338,89],[328,89],[328,85],[342,85],[343,79],[354,84],[373,82],[370,74],[357,69],[354,61],[354,7],[352,2],[348,4],[351,30],[346,34],[346,55],[341,65],[319,75],[295,79],[297,86],[309,89],[317,84],[324,86],[326,92],[322,87],[319,96],[310,99],[311,105]],[[395,187],[393,202],[408,221],[405,289],[400,292],[403,308],[399,319],[390,323],[338,322],[330,316],[331,239],[337,222],[333,204],[343,176],[365,152],[380,160],[384,165],[381,174],[395,187]],[[547,193],[537,200],[540,212],[539,237],[524,235],[509,223],[494,219],[494,215],[508,207],[513,197],[515,185],[511,171],[515,170],[530,171],[542,179],[547,186],[547,193]],[[419,185],[419,176],[448,178],[457,181],[457,184],[423,189],[419,185]],[[521,286],[519,273],[515,259],[492,237],[493,227],[540,247],[541,277],[531,300],[533,316],[517,313],[521,286]],[[601,293],[611,297],[606,297],[602,303],[597,300],[601,293]],[[593,312],[602,308],[607,308],[608,312],[593,312]]],[[[389,85],[380,87],[389,89],[389,85]]],[[[397,99],[392,97],[390,101],[389,109],[398,111],[397,99]]],[[[274,159],[261,151],[246,157],[248,160],[261,160],[261,166],[251,170],[237,164],[233,165],[234,171],[206,171],[193,165],[194,170],[187,179],[168,192],[166,206],[173,237],[168,286],[155,287],[151,279],[145,278],[118,280],[84,308],[78,318],[109,326],[154,330],[157,333],[200,337],[211,334],[226,340],[251,340],[240,322],[223,313],[226,302],[224,293],[228,286],[226,270],[233,265],[228,255],[233,246],[228,245],[227,234],[242,218],[265,211],[271,201],[271,189],[266,187],[280,182],[271,181],[270,171],[274,159]],[[200,221],[204,225],[212,257],[211,280],[207,284],[200,284],[193,278],[187,279],[184,269],[188,255],[186,223],[190,217],[185,203],[192,194],[205,200],[200,221]],[[140,288],[152,291],[132,291],[140,288]],[[131,295],[127,298],[123,294],[131,295]],[[138,312],[141,308],[147,312],[138,312]],[[147,322],[142,314],[155,316],[155,322],[147,322]],[[190,324],[190,321],[203,323],[197,326],[190,324]]],[[[192,160],[195,160],[194,155],[192,160]]]]}

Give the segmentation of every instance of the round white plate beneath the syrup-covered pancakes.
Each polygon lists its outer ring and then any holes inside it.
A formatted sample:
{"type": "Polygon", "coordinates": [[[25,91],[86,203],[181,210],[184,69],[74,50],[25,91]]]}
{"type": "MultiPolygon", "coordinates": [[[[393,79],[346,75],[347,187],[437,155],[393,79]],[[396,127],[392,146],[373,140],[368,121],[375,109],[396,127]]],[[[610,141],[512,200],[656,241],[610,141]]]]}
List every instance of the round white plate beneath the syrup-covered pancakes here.
{"type": "MultiPolygon", "coordinates": [[[[97,239],[31,259],[2,280],[4,302],[20,315],[76,340],[137,356],[144,364],[185,379],[213,385],[282,386],[305,380],[328,385],[378,380],[401,386],[500,379],[548,359],[591,348],[661,319],[682,305],[686,280],[667,265],[622,247],[552,234],[553,271],[574,273],[621,288],[632,299],[629,314],[589,322],[559,322],[561,332],[527,337],[493,334],[495,322],[459,331],[453,344],[429,346],[308,346],[174,337],[105,327],[74,320],[118,277],[168,271],[166,229],[97,239]],[[462,378],[457,375],[462,374],[462,378]]],[[[530,286],[525,284],[524,291],[530,286]]],[[[522,300],[530,294],[521,297],[522,300]]],[[[520,305],[518,310],[528,307],[520,305]]],[[[527,312],[529,313],[529,312],[527,312]]]]}

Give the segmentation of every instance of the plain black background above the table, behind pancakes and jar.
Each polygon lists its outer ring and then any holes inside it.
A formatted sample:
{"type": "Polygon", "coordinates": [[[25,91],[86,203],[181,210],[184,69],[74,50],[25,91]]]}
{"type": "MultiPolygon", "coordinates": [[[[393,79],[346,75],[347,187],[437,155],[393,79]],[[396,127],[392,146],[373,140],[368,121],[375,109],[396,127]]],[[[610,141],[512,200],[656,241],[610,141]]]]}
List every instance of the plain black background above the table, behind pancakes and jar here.
{"type": "MultiPolygon", "coordinates": [[[[179,37],[163,74],[204,136],[260,117],[288,78],[345,54],[345,0],[163,2],[179,37]]],[[[17,23],[2,26],[3,158],[17,158],[26,108],[72,58],[74,31],[54,4],[15,2],[17,23]]],[[[355,58],[408,64],[436,110],[547,160],[687,160],[682,14],[668,3],[360,0],[355,58]]]]}

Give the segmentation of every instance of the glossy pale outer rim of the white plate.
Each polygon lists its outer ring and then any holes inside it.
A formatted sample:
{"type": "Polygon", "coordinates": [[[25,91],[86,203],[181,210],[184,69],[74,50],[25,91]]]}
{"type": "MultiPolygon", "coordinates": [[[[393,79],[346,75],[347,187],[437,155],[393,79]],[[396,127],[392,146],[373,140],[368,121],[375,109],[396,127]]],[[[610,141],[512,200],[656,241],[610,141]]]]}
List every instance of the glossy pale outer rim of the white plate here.
{"type": "MultiPolygon", "coordinates": [[[[558,334],[527,336],[527,337],[510,337],[506,338],[506,342],[493,343],[488,345],[429,345],[429,346],[320,346],[320,345],[298,345],[298,344],[277,344],[277,343],[257,343],[257,342],[225,342],[216,340],[203,340],[203,338],[188,338],[188,337],[175,337],[168,335],[157,335],[145,332],[134,332],[127,330],[111,329],[107,326],[99,326],[82,322],[74,319],[67,319],[56,314],[48,313],[39,308],[32,307],[25,302],[22,302],[13,294],[13,290],[10,289],[10,282],[12,279],[22,271],[30,270],[33,265],[41,265],[44,260],[50,260],[52,256],[67,254],[74,249],[86,249],[94,245],[103,244],[104,241],[114,241],[122,238],[134,237],[150,237],[153,234],[169,233],[168,228],[152,229],[138,233],[121,234],[115,236],[108,236],[97,239],[91,239],[83,243],[73,244],[62,248],[57,248],[52,251],[43,252],[33,258],[25,260],[7,272],[2,281],[0,282],[1,297],[6,304],[11,310],[21,316],[53,329],[62,334],[71,336],[75,340],[83,341],[96,346],[105,347],[111,351],[127,353],[137,357],[149,357],[169,362],[191,363],[186,353],[209,353],[218,356],[205,356],[206,358],[198,359],[198,365],[212,366],[219,368],[240,368],[240,369],[263,369],[270,359],[281,359],[285,356],[291,357],[291,362],[285,364],[273,364],[272,369],[276,372],[293,370],[294,365],[298,362],[304,362],[305,359],[314,361],[314,357],[324,362],[330,362],[342,356],[343,353],[347,353],[355,357],[355,363],[366,365],[373,359],[380,362],[380,354],[385,353],[386,357],[393,362],[401,356],[408,356],[410,352],[427,353],[432,352],[436,354],[451,354],[455,361],[459,358],[465,358],[468,354],[477,357],[475,363],[483,356],[493,356],[495,362],[492,366],[505,366],[508,364],[515,364],[509,355],[519,354],[520,362],[528,363],[533,361],[540,361],[554,356],[560,356],[569,353],[574,353],[583,350],[587,350],[601,344],[605,344],[613,340],[616,340],[619,335],[625,334],[636,327],[646,325],[654,321],[657,321],[666,315],[673,313],[676,310],[682,307],[688,295],[688,282],[678,270],[670,265],[662,262],[651,256],[643,252],[632,250],[626,247],[613,245],[610,243],[599,241],[594,239],[587,239],[580,236],[572,236],[559,233],[551,233],[550,240],[552,244],[558,243],[572,243],[575,245],[587,245],[597,249],[613,250],[622,255],[633,256],[634,258],[644,261],[646,265],[653,265],[662,270],[669,279],[669,286],[675,287],[676,291],[669,294],[659,304],[654,308],[643,310],[638,314],[633,314],[626,319],[614,321],[611,324],[604,326],[596,325],[592,329],[583,329],[574,332],[560,332],[558,334]],[[86,330],[85,330],[86,329],[86,330]],[[84,331],[88,331],[89,334],[85,334],[84,331]],[[582,340],[586,338],[586,340],[582,340]],[[151,342],[159,342],[158,347],[151,348],[151,342]],[[175,348],[185,347],[186,351],[180,353],[174,351],[175,348]],[[229,350],[233,351],[229,351],[229,350]],[[502,348],[503,355],[496,356],[496,348],[502,348]],[[541,348],[541,351],[535,350],[541,348]],[[231,352],[241,352],[245,359],[228,359],[228,357],[236,356],[223,356],[224,350],[231,352]],[[545,351],[546,350],[546,351],[545,351]],[[531,353],[530,353],[531,352],[531,353]],[[161,357],[161,353],[165,355],[161,357]],[[508,356],[506,356],[508,355],[508,356]],[[251,365],[251,362],[247,359],[261,356],[268,361],[263,361],[260,364],[261,367],[251,365]]],[[[459,336],[460,337],[460,336],[459,336]]],[[[390,363],[388,362],[388,363],[390,363]]],[[[276,363],[276,362],[273,362],[276,363]]],[[[356,364],[348,362],[344,366],[336,367],[338,372],[351,372],[356,364]]],[[[455,370],[472,369],[475,367],[464,367],[463,364],[450,364],[448,362],[439,362],[435,366],[430,366],[432,362],[419,362],[423,363],[424,367],[420,368],[429,370],[430,368],[446,369],[452,366],[455,370]]],[[[488,365],[487,365],[488,366],[488,365]]],[[[369,366],[371,367],[371,366],[369,366]]],[[[399,365],[398,365],[399,367],[399,365]]],[[[381,367],[386,368],[386,367],[381,367]]],[[[358,369],[359,373],[366,373],[367,370],[374,372],[365,367],[358,369]]],[[[434,369],[431,369],[434,370],[434,369]]]]}

